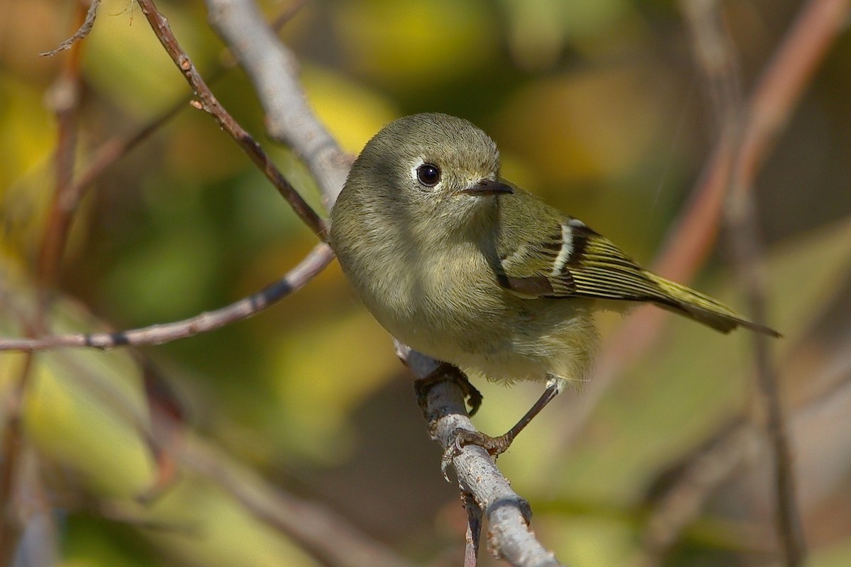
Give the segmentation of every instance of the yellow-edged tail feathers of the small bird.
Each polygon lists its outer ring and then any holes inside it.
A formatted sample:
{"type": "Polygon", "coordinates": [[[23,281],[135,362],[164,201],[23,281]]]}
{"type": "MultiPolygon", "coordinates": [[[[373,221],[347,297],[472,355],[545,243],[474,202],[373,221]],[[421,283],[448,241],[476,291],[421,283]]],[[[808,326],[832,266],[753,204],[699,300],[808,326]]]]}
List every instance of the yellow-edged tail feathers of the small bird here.
{"type": "Polygon", "coordinates": [[[665,309],[691,317],[720,332],[730,332],[736,327],[743,326],[746,329],[751,329],[751,331],[771,337],[781,336],[779,332],[768,326],[757,325],[757,323],[746,320],[733,309],[703,293],[695,292],[693,289],[675,281],[665,280],[660,275],[650,272],[647,275],[664,292],[665,298],[660,299],[658,303],[665,309]]]}

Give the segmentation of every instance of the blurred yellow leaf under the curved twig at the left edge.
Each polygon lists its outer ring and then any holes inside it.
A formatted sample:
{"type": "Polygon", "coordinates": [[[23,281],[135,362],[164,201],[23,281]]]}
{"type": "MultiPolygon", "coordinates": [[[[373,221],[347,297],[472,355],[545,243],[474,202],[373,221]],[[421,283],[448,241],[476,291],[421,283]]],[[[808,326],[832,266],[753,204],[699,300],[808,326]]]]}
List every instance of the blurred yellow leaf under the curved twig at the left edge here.
{"type": "MultiPolygon", "coordinates": [[[[31,311],[26,290],[15,293],[17,310],[31,311]]],[[[3,315],[0,328],[4,334],[23,335],[11,314],[3,315]]],[[[81,309],[60,298],[48,320],[54,332],[100,330],[81,309]]],[[[24,358],[0,354],[4,389],[17,383],[24,358]]],[[[25,394],[24,425],[42,456],[77,473],[98,494],[132,497],[152,481],[151,453],[140,434],[140,428],[148,427],[144,387],[127,351],[37,354],[25,394]]]]}

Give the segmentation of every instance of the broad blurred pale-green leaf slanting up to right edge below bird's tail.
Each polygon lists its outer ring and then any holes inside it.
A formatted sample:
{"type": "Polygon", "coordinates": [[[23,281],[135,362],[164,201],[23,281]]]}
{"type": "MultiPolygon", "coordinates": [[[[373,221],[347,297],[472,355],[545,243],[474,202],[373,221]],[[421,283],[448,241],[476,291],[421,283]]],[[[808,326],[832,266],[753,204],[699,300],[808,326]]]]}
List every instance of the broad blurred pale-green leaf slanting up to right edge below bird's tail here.
{"type": "MultiPolygon", "coordinates": [[[[785,333],[785,338],[774,344],[778,352],[790,349],[795,337],[835,299],[841,288],[838,283],[848,276],[849,269],[851,219],[797,237],[769,254],[773,308],[769,323],[785,333]]],[[[738,286],[727,277],[721,288],[697,287],[728,304],[740,305],[741,299],[730,298],[738,286]]],[[[574,451],[557,455],[539,445],[535,466],[524,467],[523,482],[546,490],[551,479],[559,478],[564,495],[631,502],[643,494],[644,479],[651,478],[660,465],[671,462],[724,417],[742,409],[752,372],[749,332],[722,335],[670,316],[671,328],[664,341],[615,383],[574,451]]],[[[530,426],[539,435],[557,431],[561,419],[570,419],[559,416],[555,408],[547,409],[530,426]]],[[[524,444],[512,447],[511,453],[517,451],[517,457],[504,457],[500,466],[511,472],[515,458],[517,462],[532,459],[535,444],[528,454],[524,444]]]]}

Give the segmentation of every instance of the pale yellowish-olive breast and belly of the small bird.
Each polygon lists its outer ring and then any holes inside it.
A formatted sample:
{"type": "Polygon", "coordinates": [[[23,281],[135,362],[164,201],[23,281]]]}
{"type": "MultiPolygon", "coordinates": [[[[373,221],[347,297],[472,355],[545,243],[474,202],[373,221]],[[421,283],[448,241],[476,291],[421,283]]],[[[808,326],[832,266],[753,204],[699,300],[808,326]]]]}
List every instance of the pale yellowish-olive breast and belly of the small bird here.
{"type": "Polygon", "coordinates": [[[472,242],[431,247],[428,260],[389,245],[338,254],[375,319],[437,360],[505,382],[583,380],[591,366],[591,304],[505,291],[472,242]],[[471,280],[471,273],[481,276],[471,280]]]}

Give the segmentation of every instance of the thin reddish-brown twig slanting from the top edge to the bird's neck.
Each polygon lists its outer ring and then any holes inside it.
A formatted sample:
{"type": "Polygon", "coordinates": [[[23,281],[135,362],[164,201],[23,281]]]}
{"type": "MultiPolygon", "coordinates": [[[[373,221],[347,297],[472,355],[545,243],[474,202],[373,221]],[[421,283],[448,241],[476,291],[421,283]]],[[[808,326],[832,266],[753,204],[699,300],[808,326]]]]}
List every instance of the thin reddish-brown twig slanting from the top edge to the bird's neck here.
{"type": "Polygon", "coordinates": [[[328,227],[323,218],[320,218],[300,196],[299,192],[283,176],[283,173],[271,162],[269,156],[266,156],[266,153],[260,149],[260,145],[254,141],[251,135],[220,105],[219,100],[215,98],[207,83],[197,72],[195,65],[192,64],[189,55],[180,48],[180,43],[174,37],[171,27],[168,26],[168,20],[163,14],[160,14],[152,0],[138,1],[142,13],[145,14],[146,19],[151,24],[151,29],[186,78],[186,82],[189,83],[192,91],[197,95],[197,108],[214,116],[220,127],[237,142],[237,145],[242,148],[251,161],[257,167],[260,167],[260,171],[266,175],[266,178],[271,181],[271,184],[274,185],[281,196],[293,207],[299,218],[324,241],[327,238],[328,227]]]}

